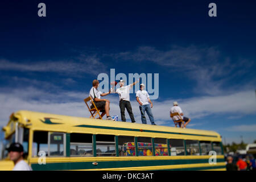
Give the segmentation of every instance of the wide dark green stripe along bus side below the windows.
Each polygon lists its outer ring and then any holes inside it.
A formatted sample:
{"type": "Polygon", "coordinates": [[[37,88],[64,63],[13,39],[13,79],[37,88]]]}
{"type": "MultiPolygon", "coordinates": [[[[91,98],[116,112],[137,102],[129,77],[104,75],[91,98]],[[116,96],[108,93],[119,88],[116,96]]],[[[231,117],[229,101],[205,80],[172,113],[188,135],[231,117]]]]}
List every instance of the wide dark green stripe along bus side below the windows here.
{"type": "MultiPolygon", "coordinates": [[[[97,161],[97,159],[95,160],[97,161]]],[[[166,166],[177,164],[199,164],[208,163],[208,159],[174,159],[174,160],[125,160],[125,161],[97,161],[93,162],[70,162],[70,163],[47,163],[31,164],[33,170],[78,170],[78,169],[104,169],[104,168],[122,168],[122,167],[146,167],[146,166],[166,166]]],[[[218,162],[224,162],[224,159],[217,159],[218,162]]],[[[213,165],[214,166],[214,165],[213,165]]]]}

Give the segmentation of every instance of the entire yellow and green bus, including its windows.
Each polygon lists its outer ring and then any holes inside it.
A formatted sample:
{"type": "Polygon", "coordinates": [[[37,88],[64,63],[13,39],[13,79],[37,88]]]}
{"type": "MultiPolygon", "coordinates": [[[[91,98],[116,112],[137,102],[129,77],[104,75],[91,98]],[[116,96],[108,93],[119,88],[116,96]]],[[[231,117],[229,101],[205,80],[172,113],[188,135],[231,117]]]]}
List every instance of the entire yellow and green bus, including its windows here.
{"type": "Polygon", "coordinates": [[[214,131],[26,110],[11,114],[3,131],[0,170],[14,167],[4,149],[12,142],[23,144],[33,170],[225,170],[214,131]]]}

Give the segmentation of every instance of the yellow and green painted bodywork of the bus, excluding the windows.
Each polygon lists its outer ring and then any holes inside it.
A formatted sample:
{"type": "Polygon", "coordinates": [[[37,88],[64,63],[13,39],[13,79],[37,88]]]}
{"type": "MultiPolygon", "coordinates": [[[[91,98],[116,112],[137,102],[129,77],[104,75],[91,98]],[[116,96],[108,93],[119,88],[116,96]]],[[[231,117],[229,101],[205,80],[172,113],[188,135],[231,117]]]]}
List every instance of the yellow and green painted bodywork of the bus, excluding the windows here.
{"type": "MultiPolygon", "coordinates": [[[[216,156],[216,164],[208,162],[211,157],[209,155],[73,157],[69,156],[69,152],[66,151],[67,154],[63,157],[46,157],[46,164],[39,164],[39,157],[32,156],[33,134],[35,131],[221,143],[221,136],[214,131],[143,125],[20,110],[11,115],[7,126],[3,128],[5,138],[9,138],[15,132],[16,125],[29,130],[27,162],[33,170],[225,170],[223,150],[221,155],[216,156]],[[47,118],[50,119],[47,120],[47,118]],[[93,163],[98,165],[96,166],[93,163]]],[[[69,144],[67,144],[65,150],[68,150],[68,147],[69,144]]],[[[0,161],[0,170],[11,170],[13,167],[13,162],[8,159],[0,161]]]]}

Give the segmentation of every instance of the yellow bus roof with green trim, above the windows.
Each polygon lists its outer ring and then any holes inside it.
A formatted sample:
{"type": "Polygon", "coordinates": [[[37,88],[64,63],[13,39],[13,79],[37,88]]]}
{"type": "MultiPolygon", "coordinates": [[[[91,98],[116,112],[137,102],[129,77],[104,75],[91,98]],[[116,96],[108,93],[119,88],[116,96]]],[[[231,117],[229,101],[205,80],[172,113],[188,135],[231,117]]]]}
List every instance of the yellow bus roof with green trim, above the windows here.
{"type": "Polygon", "coordinates": [[[14,132],[13,126],[15,122],[34,131],[132,135],[135,137],[180,138],[221,142],[221,136],[214,131],[71,117],[27,110],[19,110],[10,116],[9,123],[3,128],[6,138],[14,132]]]}

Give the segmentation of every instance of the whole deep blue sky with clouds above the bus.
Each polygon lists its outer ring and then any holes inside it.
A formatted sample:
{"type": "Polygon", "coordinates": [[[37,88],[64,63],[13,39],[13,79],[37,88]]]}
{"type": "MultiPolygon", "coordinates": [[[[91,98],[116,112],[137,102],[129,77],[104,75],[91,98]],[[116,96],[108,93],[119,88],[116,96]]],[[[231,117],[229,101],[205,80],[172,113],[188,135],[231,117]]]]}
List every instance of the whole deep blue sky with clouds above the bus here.
{"type": "MultiPolygon", "coordinates": [[[[256,139],[255,1],[1,1],[0,126],[17,110],[89,117],[83,98],[100,73],[159,73],[152,109],[174,126],[226,143],[256,139]],[[46,17],[38,4],[46,3],[46,17]],[[217,17],[208,16],[215,2],[217,17]],[[224,142],[225,142],[224,141],[224,142]]],[[[120,118],[118,96],[107,96],[120,118]]],[[[141,123],[135,94],[135,120],[141,123]]],[[[126,113],[127,121],[130,122],[126,113]]],[[[149,123],[149,121],[148,121],[149,123]]]]}

